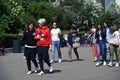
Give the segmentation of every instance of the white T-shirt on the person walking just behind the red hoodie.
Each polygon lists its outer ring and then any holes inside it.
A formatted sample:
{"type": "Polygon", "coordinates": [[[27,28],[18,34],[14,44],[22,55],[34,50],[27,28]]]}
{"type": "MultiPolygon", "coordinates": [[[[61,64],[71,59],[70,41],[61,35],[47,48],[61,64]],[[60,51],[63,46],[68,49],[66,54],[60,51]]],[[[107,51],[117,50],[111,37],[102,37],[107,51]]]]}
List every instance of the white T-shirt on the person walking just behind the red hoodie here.
{"type": "Polygon", "coordinates": [[[51,30],[52,41],[60,41],[59,33],[61,33],[59,28],[51,30]]]}

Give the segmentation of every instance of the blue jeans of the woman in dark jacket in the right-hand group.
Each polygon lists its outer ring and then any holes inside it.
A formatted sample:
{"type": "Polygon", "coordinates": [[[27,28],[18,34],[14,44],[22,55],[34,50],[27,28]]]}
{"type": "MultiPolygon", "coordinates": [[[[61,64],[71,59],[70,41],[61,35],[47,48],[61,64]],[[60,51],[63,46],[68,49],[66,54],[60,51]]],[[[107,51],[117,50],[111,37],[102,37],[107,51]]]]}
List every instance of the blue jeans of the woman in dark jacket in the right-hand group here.
{"type": "Polygon", "coordinates": [[[107,52],[106,52],[106,43],[103,42],[102,40],[99,41],[97,43],[97,62],[100,61],[100,52],[102,51],[102,57],[103,57],[103,61],[106,61],[106,56],[107,56],[107,52]]]}

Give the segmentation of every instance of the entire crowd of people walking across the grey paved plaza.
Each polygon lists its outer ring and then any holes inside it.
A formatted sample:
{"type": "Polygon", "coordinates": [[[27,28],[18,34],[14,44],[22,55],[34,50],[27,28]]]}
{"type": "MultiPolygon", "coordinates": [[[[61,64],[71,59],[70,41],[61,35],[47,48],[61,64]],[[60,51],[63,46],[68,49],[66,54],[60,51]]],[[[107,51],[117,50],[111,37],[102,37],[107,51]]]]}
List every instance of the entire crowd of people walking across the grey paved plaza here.
{"type": "Polygon", "coordinates": [[[58,62],[62,62],[61,43],[64,44],[62,47],[68,47],[68,62],[72,62],[73,60],[72,49],[75,53],[76,61],[80,61],[77,49],[80,47],[80,44],[87,47],[87,43],[90,41],[90,45],[93,46],[93,56],[97,67],[102,63],[103,65],[113,66],[114,53],[116,56],[115,66],[119,66],[117,49],[120,46],[120,33],[115,26],[108,27],[108,24],[104,22],[104,27],[101,24],[97,25],[97,29],[92,26],[90,34],[85,33],[81,37],[76,28],[71,27],[69,33],[65,33],[64,36],[61,35],[61,30],[57,27],[56,22],[53,22],[52,29],[48,27],[44,18],[38,20],[37,28],[35,28],[34,22],[28,24],[23,34],[25,44],[24,56],[28,68],[27,74],[33,73],[31,61],[35,66],[34,72],[38,73],[38,75],[45,73],[44,62],[48,65],[49,72],[53,72],[51,64],[55,62],[56,50],[58,53],[58,62]],[[109,59],[107,59],[107,50],[110,51],[109,59]]]}

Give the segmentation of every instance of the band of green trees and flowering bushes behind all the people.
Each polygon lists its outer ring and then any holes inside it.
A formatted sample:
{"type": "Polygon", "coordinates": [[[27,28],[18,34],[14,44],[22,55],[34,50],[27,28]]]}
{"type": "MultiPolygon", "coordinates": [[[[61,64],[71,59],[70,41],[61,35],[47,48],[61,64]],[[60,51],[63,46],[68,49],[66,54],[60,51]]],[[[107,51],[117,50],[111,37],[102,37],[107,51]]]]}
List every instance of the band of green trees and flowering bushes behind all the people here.
{"type": "Polygon", "coordinates": [[[19,37],[18,33],[28,22],[34,21],[37,26],[39,18],[46,18],[50,27],[57,22],[61,30],[69,30],[73,23],[80,30],[89,30],[92,24],[104,21],[120,25],[120,7],[116,4],[111,4],[104,12],[101,5],[92,0],[58,0],[57,5],[55,3],[55,0],[0,0],[0,39],[19,37]]]}

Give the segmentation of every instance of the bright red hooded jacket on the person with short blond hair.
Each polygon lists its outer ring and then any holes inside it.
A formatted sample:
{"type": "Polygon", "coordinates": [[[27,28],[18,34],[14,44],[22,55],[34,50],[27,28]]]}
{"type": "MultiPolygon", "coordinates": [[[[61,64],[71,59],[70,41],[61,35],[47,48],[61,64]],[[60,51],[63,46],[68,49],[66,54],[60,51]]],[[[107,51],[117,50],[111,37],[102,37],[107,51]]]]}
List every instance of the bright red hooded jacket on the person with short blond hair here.
{"type": "Polygon", "coordinates": [[[37,39],[37,46],[49,46],[52,43],[50,29],[47,25],[38,27],[35,31],[35,39],[37,38],[37,35],[40,35],[40,38],[37,39]]]}

